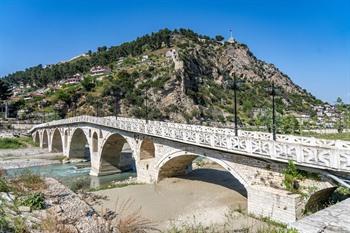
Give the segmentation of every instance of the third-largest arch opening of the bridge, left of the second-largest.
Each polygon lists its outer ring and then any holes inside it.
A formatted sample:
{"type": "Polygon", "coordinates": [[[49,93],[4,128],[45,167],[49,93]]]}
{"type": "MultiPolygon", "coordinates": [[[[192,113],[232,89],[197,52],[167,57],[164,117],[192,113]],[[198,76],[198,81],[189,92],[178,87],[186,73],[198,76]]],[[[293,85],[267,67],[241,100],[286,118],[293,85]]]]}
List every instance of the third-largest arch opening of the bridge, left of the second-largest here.
{"type": "Polygon", "coordinates": [[[90,160],[89,141],[84,130],[81,128],[76,128],[72,133],[68,157],[90,160]]]}

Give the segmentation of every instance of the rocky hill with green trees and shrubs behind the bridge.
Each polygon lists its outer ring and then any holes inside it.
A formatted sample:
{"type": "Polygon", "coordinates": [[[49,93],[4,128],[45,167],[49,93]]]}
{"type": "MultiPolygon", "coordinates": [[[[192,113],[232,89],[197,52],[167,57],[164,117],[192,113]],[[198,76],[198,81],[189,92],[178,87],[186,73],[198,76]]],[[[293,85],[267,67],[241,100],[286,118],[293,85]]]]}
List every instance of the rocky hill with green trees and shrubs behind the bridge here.
{"type": "Polygon", "coordinates": [[[267,89],[272,82],[280,90],[281,121],[298,114],[313,116],[313,106],[322,104],[274,65],[257,59],[246,45],[223,43],[186,29],[164,29],[120,46],[100,47],[68,62],[10,74],[5,80],[13,86],[29,84],[32,92],[50,87],[32,101],[16,99],[27,116],[35,111],[61,117],[111,115],[114,91],[119,93],[123,116],[145,118],[148,110],[150,119],[232,125],[233,90],[226,84],[233,76],[241,83],[238,110],[243,126],[270,126],[267,89]],[[91,76],[90,68],[98,65],[111,72],[91,76]],[[81,83],[57,87],[76,73],[84,75],[81,83]]]}

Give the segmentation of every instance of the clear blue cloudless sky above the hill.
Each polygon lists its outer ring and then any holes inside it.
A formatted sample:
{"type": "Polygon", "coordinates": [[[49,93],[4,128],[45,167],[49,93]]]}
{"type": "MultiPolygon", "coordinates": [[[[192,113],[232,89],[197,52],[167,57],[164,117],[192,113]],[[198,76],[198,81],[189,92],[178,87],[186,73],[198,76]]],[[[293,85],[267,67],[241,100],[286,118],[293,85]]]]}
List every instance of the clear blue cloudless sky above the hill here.
{"type": "Polygon", "coordinates": [[[348,0],[0,0],[0,76],[165,27],[232,29],[318,98],[350,103],[348,0]]]}

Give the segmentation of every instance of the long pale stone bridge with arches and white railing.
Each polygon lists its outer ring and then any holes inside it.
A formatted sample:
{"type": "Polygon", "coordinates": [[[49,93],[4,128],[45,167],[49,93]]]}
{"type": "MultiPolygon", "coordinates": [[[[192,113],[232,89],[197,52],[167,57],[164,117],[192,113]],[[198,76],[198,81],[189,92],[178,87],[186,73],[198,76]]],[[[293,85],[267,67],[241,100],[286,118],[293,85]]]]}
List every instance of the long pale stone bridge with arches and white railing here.
{"type": "Polygon", "coordinates": [[[30,133],[50,152],[89,157],[92,176],[123,171],[133,162],[138,180],[153,183],[186,174],[195,158],[205,157],[244,186],[248,212],[287,223],[301,216],[300,197],[266,185],[282,182],[285,163],[293,160],[312,171],[350,173],[350,142],[343,141],[286,135],[273,141],[262,132],[240,131],[236,137],[227,128],[91,116],[40,124],[30,133]]]}

